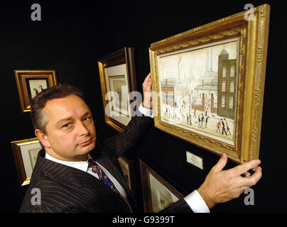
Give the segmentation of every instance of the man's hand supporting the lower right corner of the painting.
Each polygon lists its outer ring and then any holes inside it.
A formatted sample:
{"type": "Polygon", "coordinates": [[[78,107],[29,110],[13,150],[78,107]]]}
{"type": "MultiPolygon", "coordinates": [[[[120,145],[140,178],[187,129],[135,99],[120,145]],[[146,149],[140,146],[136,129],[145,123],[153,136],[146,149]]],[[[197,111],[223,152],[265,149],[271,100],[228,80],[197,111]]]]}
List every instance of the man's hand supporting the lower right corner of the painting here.
{"type": "Polygon", "coordinates": [[[259,165],[260,160],[251,160],[230,170],[222,170],[226,163],[227,155],[223,153],[208,173],[205,182],[197,189],[209,209],[215,204],[238,198],[245,189],[255,185],[262,176],[261,167],[257,167],[253,175],[247,172],[259,165]]]}

